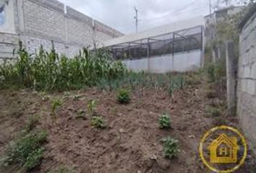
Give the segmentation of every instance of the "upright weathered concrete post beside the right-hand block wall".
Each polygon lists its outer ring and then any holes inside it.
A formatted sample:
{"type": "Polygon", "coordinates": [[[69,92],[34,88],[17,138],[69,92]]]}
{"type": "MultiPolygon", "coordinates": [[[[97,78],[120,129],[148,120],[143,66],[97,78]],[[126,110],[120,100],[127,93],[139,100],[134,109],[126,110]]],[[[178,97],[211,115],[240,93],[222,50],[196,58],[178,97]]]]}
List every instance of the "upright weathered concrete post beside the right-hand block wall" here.
{"type": "Polygon", "coordinates": [[[230,115],[236,115],[236,68],[234,43],[226,42],[226,96],[230,115]]]}

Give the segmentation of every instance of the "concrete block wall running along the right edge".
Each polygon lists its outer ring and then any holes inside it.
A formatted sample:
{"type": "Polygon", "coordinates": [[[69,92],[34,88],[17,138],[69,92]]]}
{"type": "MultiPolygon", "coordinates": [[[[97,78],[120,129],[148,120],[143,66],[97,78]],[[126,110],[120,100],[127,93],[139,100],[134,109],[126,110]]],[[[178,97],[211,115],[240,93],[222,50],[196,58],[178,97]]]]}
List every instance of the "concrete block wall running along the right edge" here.
{"type": "Polygon", "coordinates": [[[237,85],[237,114],[256,154],[256,13],[242,28],[237,85]]]}

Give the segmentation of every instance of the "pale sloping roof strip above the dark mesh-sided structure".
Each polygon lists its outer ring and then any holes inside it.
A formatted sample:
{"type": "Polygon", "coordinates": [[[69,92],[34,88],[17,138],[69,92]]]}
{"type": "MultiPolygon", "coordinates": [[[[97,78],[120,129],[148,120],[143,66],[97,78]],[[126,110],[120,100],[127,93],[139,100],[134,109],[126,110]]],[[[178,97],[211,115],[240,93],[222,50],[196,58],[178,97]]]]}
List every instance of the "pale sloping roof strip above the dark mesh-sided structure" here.
{"type": "Polygon", "coordinates": [[[197,27],[197,26],[203,26],[205,25],[204,17],[194,17],[191,19],[182,20],[179,22],[174,22],[168,25],[163,25],[161,27],[155,27],[150,30],[145,30],[142,32],[138,32],[135,34],[130,35],[124,35],[121,37],[117,37],[111,40],[107,40],[100,45],[103,45],[103,47],[108,47],[111,45],[117,45],[121,43],[129,43],[137,40],[142,40],[148,37],[155,37],[158,35],[164,35],[171,32],[176,32],[179,30],[186,30],[188,28],[197,27]]]}

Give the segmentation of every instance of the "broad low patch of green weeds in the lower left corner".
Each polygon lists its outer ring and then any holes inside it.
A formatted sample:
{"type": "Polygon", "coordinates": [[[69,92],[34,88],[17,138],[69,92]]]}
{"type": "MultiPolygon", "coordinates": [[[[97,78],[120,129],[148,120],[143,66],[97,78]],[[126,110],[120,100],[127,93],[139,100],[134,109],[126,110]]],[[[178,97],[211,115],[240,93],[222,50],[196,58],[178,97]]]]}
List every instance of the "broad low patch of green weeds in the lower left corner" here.
{"type": "Polygon", "coordinates": [[[7,148],[7,156],[4,159],[4,166],[19,164],[27,172],[38,167],[43,159],[43,143],[47,140],[46,131],[28,133],[26,136],[17,139],[12,146],[7,148]]]}

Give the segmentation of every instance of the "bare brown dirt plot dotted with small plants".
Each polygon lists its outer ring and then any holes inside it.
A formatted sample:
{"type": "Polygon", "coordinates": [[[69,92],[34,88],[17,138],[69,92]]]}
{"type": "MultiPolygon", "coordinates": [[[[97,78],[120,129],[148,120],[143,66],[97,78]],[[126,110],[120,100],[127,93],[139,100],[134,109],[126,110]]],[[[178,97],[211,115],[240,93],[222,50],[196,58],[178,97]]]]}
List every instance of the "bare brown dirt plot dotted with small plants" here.
{"type": "MultiPolygon", "coordinates": [[[[116,102],[116,92],[97,89],[79,91],[80,99],[63,99],[57,110],[57,120],[51,117],[51,98],[63,98],[64,93],[50,94],[26,90],[0,91],[0,155],[24,128],[30,115],[39,115],[38,129],[48,131],[48,143],[40,168],[32,172],[48,172],[61,166],[73,167],[85,173],[205,173],[210,172],[200,161],[198,146],[202,135],[215,126],[213,117],[205,117],[209,100],[205,84],[187,86],[173,97],[162,90],[135,89],[129,105],[116,102]],[[77,117],[87,102],[95,99],[96,112],[106,120],[105,129],[93,128],[89,116],[77,117]],[[158,117],[171,115],[171,129],[161,130],[158,117]],[[179,140],[181,151],[176,159],[163,156],[161,139],[167,136],[179,140]]],[[[71,92],[77,94],[77,92],[71,92]]],[[[236,121],[228,125],[236,127],[236,121]]],[[[252,158],[237,172],[254,172],[252,158]]],[[[1,169],[0,169],[1,170],[1,169]]],[[[1,172],[18,172],[17,167],[1,172]]]]}

